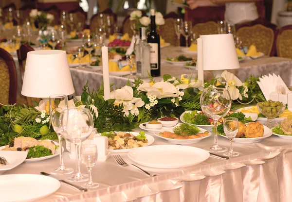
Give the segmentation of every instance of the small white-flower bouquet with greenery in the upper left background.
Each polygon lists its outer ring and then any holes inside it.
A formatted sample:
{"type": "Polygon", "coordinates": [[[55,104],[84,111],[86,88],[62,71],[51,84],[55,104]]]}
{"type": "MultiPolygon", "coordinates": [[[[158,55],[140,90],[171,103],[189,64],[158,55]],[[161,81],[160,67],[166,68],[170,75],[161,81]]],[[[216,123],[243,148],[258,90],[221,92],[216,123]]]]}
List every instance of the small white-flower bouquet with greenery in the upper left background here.
{"type": "Polygon", "coordinates": [[[52,14],[37,11],[37,9],[32,9],[29,16],[36,20],[38,28],[41,30],[46,30],[48,24],[55,18],[52,14]]]}

